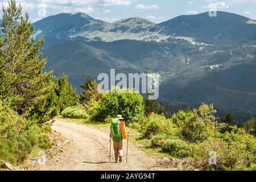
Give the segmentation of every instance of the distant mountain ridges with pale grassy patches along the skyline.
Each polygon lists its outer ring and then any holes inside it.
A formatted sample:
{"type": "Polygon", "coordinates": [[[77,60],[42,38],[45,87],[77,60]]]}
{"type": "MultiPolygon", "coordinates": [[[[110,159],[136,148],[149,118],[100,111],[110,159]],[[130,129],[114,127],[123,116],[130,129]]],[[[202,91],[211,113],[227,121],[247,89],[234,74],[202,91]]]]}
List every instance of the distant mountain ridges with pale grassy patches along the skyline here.
{"type": "Polygon", "coordinates": [[[83,13],[63,13],[34,23],[34,36],[43,36],[47,40],[46,46],[72,40],[113,42],[123,39],[239,45],[255,44],[255,24],[255,20],[222,11],[218,11],[216,17],[210,17],[208,13],[182,15],[159,24],[143,18],[108,23],[83,13]]]}

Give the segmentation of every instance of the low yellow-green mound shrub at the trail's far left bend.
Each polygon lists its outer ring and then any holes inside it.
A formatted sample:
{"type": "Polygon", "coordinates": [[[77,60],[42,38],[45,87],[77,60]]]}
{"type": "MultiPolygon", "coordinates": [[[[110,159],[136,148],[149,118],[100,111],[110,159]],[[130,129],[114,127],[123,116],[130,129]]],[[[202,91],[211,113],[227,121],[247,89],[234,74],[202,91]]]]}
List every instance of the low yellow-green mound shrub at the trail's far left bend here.
{"type": "Polygon", "coordinates": [[[64,118],[74,118],[74,119],[87,119],[88,114],[84,110],[77,107],[67,107],[61,112],[64,118]]]}

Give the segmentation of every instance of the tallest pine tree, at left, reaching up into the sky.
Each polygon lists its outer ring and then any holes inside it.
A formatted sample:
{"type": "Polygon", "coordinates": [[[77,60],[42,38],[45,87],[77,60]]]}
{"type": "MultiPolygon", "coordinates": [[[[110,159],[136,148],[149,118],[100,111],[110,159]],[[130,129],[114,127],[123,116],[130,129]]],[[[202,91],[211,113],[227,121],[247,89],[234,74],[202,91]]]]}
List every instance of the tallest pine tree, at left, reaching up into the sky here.
{"type": "MultiPolygon", "coordinates": [[[[34,28],[28,22],[28,14],[22,16],[22,7],[11,0],[3,7],[1,37],[1,74],[11,80],[2,88],[13,90],[12,106],[26,118],[46,121],[55,112],[54,104],[48,107],[48,97],[52,96],[54,77],[43,72],[46,59],[42,59],[43,39],[35,43],[32,37],[34,28]]],[[[7,93],[11,97],[11,93],[7,93]]]]}

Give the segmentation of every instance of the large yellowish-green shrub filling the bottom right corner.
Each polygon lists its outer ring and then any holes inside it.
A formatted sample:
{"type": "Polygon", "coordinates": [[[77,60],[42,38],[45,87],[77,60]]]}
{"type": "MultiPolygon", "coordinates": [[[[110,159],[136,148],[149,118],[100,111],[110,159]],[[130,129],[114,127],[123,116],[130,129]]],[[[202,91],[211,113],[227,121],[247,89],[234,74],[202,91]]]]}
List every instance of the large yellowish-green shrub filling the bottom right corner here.
{"type": "Polygon", "coordinates": [[[218,138],[209,138],[202,143],[189,145],[192,157],[201,169],[243,170],[256,160],[256,140],[245,129],[236,126],[229,133],[217,134],[218,138]],[[216,152],[217,163],[207,165],[209,152],[216,152]]]}

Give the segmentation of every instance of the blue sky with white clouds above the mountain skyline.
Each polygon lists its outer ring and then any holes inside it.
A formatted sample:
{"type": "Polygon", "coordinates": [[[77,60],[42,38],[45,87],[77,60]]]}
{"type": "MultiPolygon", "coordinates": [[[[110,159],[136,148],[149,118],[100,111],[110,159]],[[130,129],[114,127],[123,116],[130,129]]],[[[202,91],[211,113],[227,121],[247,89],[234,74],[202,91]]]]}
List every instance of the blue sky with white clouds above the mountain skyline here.
{"type": "MultiPolygon", "coordinates": [[[[106,22],[139,16],[159,23],[184,14],[198,14],[212,7],[256,19],[256,0],[16,0],[30,14],[31,22],[59,13],[86,13],[106,22]]],[[[0,0],[6,6],[8,0],[0,0]]],[[[2,11],[0,11],[2,13],[2,11]]]]}

